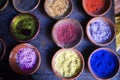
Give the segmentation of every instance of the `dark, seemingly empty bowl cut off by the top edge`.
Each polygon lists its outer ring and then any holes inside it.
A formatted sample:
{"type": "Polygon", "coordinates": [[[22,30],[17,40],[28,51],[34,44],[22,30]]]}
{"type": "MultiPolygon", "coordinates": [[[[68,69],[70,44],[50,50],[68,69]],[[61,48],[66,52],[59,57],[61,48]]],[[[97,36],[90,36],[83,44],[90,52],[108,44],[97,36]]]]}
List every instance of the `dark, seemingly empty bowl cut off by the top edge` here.
{"type": "Polygon", "coordinates": [[[18,12],[29,13],[39,6],[40,0],[12,0],[12,3],[18,12]]]}

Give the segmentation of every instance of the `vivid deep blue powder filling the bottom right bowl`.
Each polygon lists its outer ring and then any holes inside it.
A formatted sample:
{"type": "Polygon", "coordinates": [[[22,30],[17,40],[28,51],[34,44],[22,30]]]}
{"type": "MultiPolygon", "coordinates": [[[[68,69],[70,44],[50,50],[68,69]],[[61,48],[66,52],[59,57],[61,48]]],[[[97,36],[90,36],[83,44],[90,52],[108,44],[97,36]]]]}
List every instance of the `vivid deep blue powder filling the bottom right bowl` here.
{"type": "Polygon", "coordinates": [[[107,79],[117,73],[119,60],[116,55],[108,50],[99,50],[91,56],[90,66],[96,76],[107,79]]]}

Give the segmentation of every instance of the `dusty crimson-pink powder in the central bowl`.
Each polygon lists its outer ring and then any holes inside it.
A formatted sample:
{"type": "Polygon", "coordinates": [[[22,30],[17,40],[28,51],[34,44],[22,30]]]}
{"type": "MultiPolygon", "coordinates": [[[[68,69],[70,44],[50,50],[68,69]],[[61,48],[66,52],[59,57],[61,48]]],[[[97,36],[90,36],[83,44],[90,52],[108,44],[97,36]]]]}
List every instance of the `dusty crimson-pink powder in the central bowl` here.
{"type": "Polygon", "coordinates": [[[80,37],[80,32],[78,30],[77,27],[71,24],[61,25],[58,30],[56,30],[57,40],[66,45],[75,44],[80,37]]]}

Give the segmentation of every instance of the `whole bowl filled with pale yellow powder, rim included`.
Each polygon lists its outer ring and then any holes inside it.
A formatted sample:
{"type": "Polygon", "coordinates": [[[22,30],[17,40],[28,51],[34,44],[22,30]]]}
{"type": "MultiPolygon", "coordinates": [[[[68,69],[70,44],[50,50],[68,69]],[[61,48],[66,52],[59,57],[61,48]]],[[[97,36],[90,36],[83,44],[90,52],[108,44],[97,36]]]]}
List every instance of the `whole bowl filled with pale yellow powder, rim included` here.
{"type": "Polygon", "coordinates": [[[52,58],[52,69],[57,77],[62,80],[74,80],[84,70],[82,54],[73,48],[60,49],[52,58]]]}

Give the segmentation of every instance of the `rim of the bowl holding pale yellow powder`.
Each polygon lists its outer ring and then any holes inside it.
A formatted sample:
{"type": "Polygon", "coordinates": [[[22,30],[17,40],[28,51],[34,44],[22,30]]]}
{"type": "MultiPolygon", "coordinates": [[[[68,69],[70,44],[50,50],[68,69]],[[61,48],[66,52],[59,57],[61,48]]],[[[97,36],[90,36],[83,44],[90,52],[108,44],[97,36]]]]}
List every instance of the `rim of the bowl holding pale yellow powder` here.
{"type": "Polygon", "coordinates": [[[62,48],[62,49],[59,49],[59,50],[53,55],[51,65],[52,65],[52,70],[53,70],[54,74],[55,74],[58,78],[60,78],[60,79],[62,79],[62,80],[69,80],[69,79],[72,80],[72,79],[76,79],[76,78],[78,78],[78,77],[83,73],[83,71],[84,71],[84,69],[85,69],[84,57],[82,56],[82,53],[81,53],[79,50],[75,49],[75,48],[69,48],[69,49],[64,49],[64,48],[62,48]],[[77,56],[81,59],[81,63],[82,63],[81,71],[80,71],[76,76],[73,76],[73,77],[64,77],[64,76],[59,75],[59,72],[57,72],[57,71],[55,70],[54,60],[55,60],[56,56],[57,56],[61,51],[64,51],[64,50],[72,50],[72,51],[74,51],[74,52],[77,54],[77,56]]]}

